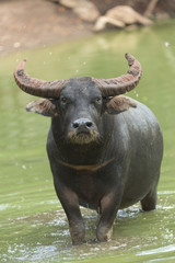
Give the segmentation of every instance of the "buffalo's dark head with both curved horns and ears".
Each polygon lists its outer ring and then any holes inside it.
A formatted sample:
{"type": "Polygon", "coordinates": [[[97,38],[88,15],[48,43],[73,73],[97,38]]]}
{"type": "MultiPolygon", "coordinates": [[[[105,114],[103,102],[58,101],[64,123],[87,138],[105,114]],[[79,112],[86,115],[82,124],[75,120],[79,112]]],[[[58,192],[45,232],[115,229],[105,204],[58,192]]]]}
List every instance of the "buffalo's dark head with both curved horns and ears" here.
{"type": "Polygon", "coordinates": [[[27,105],[30,112],[58,117],[62,134],[72,142],[89,144],[101,139],[100,122],[104,113],[117,114],[136,106],[121,96],[132,90],[141,78],[141,66],[126,54],[129,71],[114,79],[91,77],[43,81],[25,72],[26,60],[21,61],[14,78],[18,85],[32,95],[45,98],[27,105]]]}

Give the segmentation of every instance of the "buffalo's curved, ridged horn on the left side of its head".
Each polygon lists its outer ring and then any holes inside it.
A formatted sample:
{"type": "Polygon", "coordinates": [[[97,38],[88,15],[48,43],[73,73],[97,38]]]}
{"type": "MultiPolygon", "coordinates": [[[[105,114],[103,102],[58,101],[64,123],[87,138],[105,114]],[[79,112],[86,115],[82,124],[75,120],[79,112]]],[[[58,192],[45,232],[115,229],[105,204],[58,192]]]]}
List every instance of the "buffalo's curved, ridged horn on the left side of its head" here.
{"type": "Polygon", "coordinates": [[[26,60],[24,59],[14,70],[14,79],[20,89],[31,95],[58,99],[68,80],[44,81],[34,79],[25,72],[25,65],[26,60]]]}

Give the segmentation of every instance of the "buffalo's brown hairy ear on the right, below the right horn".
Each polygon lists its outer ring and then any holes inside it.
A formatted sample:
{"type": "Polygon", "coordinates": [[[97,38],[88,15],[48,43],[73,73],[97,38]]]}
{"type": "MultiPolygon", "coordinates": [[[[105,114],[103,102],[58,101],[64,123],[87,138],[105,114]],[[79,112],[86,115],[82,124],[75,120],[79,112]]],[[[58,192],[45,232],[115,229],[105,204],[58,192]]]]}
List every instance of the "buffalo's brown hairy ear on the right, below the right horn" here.
{"type": "Polygon", "coordinates": [[[122,95],[117,95],[112,98],[107,103],[106,103],[106,112],[109,114],[118,114],[125,111],[128,111],[129,107],[137,107],[136,101],[133,101],[130,98],[122,96],[122,95]]]}

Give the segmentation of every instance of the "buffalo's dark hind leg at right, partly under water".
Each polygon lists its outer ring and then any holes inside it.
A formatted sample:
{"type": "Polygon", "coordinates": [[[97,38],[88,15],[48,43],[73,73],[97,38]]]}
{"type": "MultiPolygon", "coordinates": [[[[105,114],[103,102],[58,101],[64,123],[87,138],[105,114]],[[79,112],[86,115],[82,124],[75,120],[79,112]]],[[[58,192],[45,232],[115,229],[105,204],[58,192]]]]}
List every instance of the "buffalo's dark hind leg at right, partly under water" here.
{"type": "Polygon", "coordinates": [[[141,201],[141,207],[144,211],[156,209],[156,187],[144,196],[141,201]]]}

